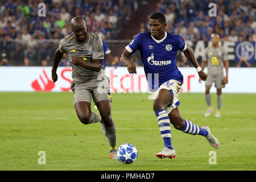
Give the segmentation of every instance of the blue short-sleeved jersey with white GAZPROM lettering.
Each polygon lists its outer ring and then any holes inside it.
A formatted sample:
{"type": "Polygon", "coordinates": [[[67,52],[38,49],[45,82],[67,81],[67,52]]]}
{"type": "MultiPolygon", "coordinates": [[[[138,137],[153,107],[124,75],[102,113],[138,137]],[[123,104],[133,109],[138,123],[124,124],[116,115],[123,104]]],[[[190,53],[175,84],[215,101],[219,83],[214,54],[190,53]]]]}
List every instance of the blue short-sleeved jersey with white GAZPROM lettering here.
{"type": "Polygon", "coordinates": [[[150,91],[157,90],[160,85],[171,79],[183,83],[183,76],[177,69],[175,56],[178,50],[185,51],[187,45],[180,35],[166,32],[162,40],[156,40],[151,32],[144,32],[135,36],[125,47],[130,53],[141,51],[150,91]]]}

